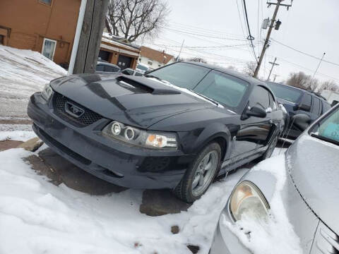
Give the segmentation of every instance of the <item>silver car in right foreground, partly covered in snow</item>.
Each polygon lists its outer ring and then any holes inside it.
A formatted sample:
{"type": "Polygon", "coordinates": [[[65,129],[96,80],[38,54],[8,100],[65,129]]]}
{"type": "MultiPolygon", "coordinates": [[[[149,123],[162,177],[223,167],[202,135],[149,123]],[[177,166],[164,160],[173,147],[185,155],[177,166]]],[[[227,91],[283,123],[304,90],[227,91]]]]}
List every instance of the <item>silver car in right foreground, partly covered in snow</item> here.
{"type": "MultiPolygon", "coordinates": [[[[263,222],[261,226],[265,230],[268,216],[274,221],[277,215],[270,214],[270,208],[284,217],[287,215],[285,226],[292,224],[291,230],[296,234],[292,239],[297,241],[299,237],[302,253],[339,253],[338,155],[339,105],[321,116],[289,147],[285,154],[287,177],[284,172],[272,174],[269,170],[258,170],[260,164],[242,177],[222,210],[210,253],[250,254],[227,224],[234,225],[245,218],[248,224],[253,219],[257,224],[263,222]],[[277,200],[276,207],[270,207],[276,197],[282,199],[283,207],[277,200]]],[[[252,234],[256,232],[243,230],[239,234],[247,234],[246,239],[253,241],[252,234]]],[[[279,240],[287,241],[283,236],[279,240]]],[[[275,243],[263,243],[263,246],[267,244],[275,243]]]]}

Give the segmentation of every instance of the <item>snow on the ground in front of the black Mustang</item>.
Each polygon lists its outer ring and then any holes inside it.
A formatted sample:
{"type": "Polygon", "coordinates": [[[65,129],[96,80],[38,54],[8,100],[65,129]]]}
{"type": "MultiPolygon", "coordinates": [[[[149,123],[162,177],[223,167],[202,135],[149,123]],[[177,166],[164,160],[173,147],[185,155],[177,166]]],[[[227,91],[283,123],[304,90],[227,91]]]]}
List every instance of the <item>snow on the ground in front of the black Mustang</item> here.
{"type": "Polygon", "coordinates": [[[208,253],[215,225],[244,170],[213,184],[188,212],[148,217],[142,191],[88,195],[38,176],[22,149],[0,152],[0,253],[208,253]],[[179,226],[179,234],[171,226],[179,226]]]}

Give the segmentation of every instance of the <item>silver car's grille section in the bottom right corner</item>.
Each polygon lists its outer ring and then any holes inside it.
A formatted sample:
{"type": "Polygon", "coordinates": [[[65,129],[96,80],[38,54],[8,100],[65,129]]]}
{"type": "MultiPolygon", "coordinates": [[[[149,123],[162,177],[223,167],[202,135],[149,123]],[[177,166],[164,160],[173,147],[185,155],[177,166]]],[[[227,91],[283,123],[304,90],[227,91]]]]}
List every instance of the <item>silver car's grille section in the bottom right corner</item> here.
{"type": "Polygon", "coordinates": [[[319,222],[314,237],[311,254],[338,254],[339,236],[319,222]]]}

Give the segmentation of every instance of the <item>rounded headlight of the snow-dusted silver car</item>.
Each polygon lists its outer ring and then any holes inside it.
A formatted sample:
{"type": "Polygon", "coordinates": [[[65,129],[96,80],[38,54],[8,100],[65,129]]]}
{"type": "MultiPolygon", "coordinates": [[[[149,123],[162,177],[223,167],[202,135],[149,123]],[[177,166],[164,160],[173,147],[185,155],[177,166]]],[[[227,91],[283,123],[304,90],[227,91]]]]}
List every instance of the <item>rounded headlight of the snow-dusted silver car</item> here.
{"type": "Polygon", "coordinates": [[[266,219],[269,205],[261,191],[250,181],[242,181],[231,194],[230,212],[235,221],[242,217],[266,219]]]}

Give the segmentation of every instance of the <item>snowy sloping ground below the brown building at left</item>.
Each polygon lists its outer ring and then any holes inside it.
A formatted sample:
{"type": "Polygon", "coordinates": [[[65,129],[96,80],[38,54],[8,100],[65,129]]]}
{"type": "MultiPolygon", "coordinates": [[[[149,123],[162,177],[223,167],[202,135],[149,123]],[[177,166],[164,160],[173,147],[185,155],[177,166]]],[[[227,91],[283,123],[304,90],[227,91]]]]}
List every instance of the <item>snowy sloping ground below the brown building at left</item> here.
{"type": "Polygon", "coordinates": [[[31,50],[0,45],[0,119],[27,117],[28,98],[45,83],[66,75],[53,61],[31,50]]]}

